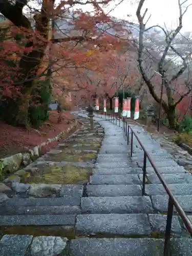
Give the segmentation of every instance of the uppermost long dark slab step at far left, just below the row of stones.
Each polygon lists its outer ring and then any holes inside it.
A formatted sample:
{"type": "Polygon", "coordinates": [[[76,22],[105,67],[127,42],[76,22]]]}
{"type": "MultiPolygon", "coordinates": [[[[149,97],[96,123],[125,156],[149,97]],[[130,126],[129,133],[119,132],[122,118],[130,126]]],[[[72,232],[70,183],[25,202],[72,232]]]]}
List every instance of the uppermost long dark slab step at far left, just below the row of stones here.
{"type": "Polygon", "coordinates": [[[80,197],[58,197],[58,198],[18,198],[4,201],[4,206],[73,206],[80,205],[80,197]]]}

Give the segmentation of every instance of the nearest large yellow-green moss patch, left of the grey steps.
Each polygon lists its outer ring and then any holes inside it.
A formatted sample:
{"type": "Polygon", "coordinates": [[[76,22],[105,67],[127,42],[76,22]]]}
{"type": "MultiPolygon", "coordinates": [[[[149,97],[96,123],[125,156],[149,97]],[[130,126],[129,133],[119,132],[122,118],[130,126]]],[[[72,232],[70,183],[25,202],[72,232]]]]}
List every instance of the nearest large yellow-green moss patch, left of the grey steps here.
{"type": "Polygon", "coordinates": [[[81,168],[72,165],[42,166],[38,170],[38,174],[31,177],[23,177],[23,183],[45,183],[45,184],[83,184],[88,182],[90,168],[81,168]]]}

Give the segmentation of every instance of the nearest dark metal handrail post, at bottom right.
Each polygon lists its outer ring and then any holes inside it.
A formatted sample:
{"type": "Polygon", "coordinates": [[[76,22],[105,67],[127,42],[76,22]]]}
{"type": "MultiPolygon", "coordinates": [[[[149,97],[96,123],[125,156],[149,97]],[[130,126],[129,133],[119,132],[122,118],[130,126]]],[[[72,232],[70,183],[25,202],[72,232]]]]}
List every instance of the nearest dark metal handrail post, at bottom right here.
{"type": "Polygon", "coordinates": [[[168,256],[169,255],[170,231],[172,229],[173,211],[174,211],[174,204],[173,204],[172,200],[169,197],[163,256],[168,256]]]}

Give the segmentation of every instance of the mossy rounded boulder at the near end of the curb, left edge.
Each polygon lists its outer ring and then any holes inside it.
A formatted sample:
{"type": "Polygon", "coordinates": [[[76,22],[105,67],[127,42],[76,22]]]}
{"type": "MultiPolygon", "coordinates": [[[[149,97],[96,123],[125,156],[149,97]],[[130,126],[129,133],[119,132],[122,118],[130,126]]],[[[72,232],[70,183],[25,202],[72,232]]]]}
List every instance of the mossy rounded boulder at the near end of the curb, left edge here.
{"type": "Polygon", "coordinates": [[[2,159],[2,162],[5,165],[4,170],[9,171],[10,173],[13,173],[15,172],[15,170],[18,170],[20,165],[22,164],[22,157],[22,153],[18,153],[13,156],[2,159]]]}

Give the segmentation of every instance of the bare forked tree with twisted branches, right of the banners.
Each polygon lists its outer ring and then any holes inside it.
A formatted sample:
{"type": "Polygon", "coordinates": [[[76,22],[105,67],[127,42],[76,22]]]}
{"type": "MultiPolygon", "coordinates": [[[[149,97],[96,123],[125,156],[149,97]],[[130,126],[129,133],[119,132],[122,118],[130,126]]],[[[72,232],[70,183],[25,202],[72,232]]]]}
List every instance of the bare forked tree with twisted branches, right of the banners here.
{"type": "MultiPolygon", "coordinates": [[[[140,0],[139,5],[137,8],[137,18],[139,22],[139,46],[138,46],[138,63],[139,63],[139,69],[141,72],[141,75],[143,77],[143,80],[145,81],[148,90],[150,91],[153,98],[160,103],[160,95],[158,94],[159,90],[157,91],[157,87],[154,86],[153,79],[151,79],[154,74],[150,74],[146,71],[146,63],[147,58],[150,58],[151,62],[153,63],[152,69],[157,70],[163,81],[164,81],[164,87],[166,90],[166,99],[163,99],[162,101],[162,107],[167,115],[167,119],[169,121],[170,128],[174,129],[176,127],[176,106],[182,101],[184,97],[190,94],[192,90],[192,83],[191,83],[191,77],[184,76],[186,71],[189,69],[188,65],[188,53],[183,54],[181,53],[174,45],[174,42],[176,38],[180,35],[181,29],[182,29],[182,22],[183,22],[183,16],[186,13],[188,7],[190,4],[187,5],[188,0],[178,0],[178,8],[179,8],[179,23],[175,30],[167,30],[166,27],[163,28],[159,25],[154,25],[150,28],[146,28],[146,23],[144,22],[144,18],[147,14],[147,9],[144,11],[144,14],[141,14],[141,10],[143,7],[145,0],[140,0]],[[155,44],[155,46],[151,45],[151,49],[157,50],[158,48],[161,50],[158,56],[154,56],[152,52],[146,50],[145,48],[145,41],[144,41],[144,35],[145,33],[148,33],[153,28],[158,28],[164,33],[164,43],[155,44]],[[174,54],[174,56],[177,56],[177,58],[180,58],[181,65],[179,67],[175,68],[175,63],[172,61],[172,64],[170,65],[170,60],[173,60],[173,55],[170,56],[170,52],[174,54]],[[174,73],[170,73],[170,70],[174,69],[174,73]],[[178,92],[177,97],[175,97],[175,83],[180,83],[180,86],[184,84],[185,89],[180,90],[178,92]]],[[[156,35],[158,33],[156,32],[156,35]]],[[[190,73],[190,72],[189,72],[190,73]]],[[[188,73],[188,74],[189,74],[188,73]]]]}

